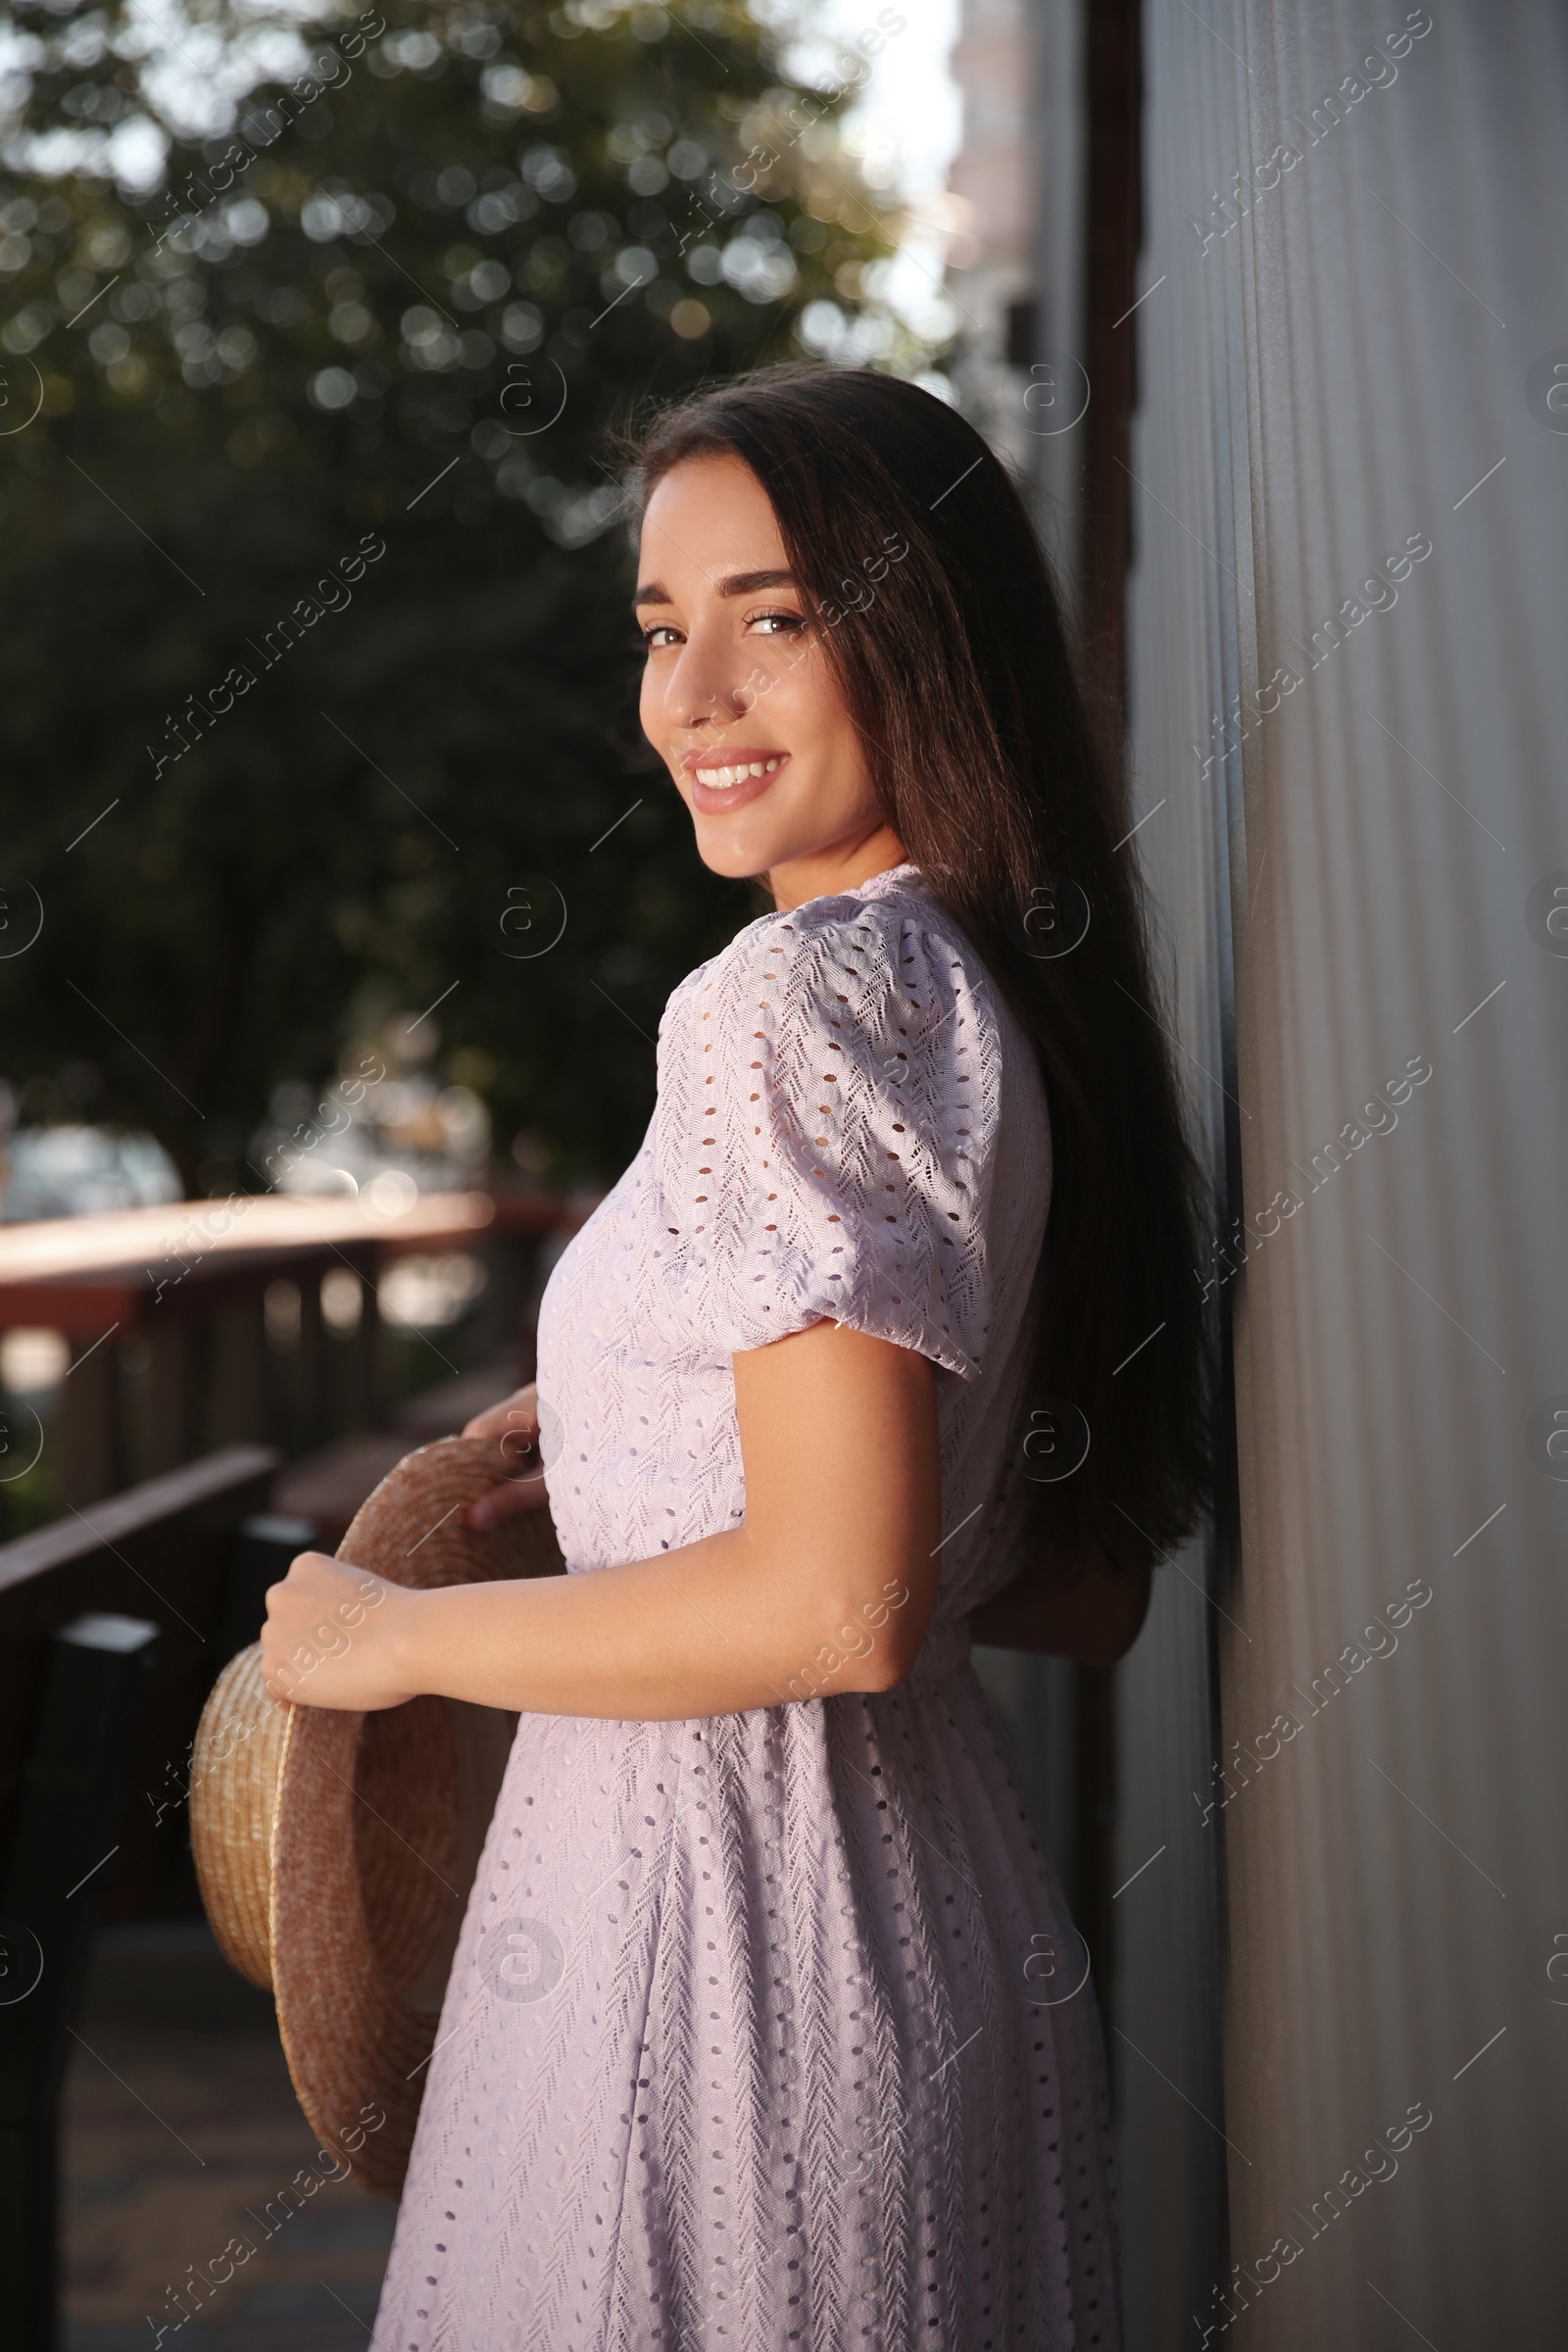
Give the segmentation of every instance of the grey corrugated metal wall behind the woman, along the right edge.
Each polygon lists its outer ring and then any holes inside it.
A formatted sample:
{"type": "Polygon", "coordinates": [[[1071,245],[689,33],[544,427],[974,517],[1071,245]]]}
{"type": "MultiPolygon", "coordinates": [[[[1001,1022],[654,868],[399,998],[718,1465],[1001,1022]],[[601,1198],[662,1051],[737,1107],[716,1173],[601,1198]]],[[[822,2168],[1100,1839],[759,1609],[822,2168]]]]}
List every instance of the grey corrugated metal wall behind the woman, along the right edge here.
{"type": "Polygon", "coordinates": [[[1568,14],[1150,0],[1145,71],[1133,816],[1246,1225],[1237,1571],[1121,1672],[1131,2345],[1547,2347],[1568,14]]]}

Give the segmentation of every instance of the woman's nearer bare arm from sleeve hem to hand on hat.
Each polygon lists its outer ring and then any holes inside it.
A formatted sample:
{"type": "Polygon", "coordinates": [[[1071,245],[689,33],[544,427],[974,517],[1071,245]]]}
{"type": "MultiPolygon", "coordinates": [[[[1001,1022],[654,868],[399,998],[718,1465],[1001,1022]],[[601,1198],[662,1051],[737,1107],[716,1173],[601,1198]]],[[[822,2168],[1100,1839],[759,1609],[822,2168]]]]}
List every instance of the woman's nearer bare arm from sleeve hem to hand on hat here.
{"type": "Polygon", "coordinates": [[[658,1559],[440,1592],[367,1581],[303,1552],[268,1592],[268,1682],[327,1708],[440,1691],[531,1715],[644,1722],[891,1689],[914,1665],[936,1606],[931,1364],[823,1322],[736,1355],[733,1367],[738,1526],[658,1559]],[[336,1630],[339,1602],[357,1606],[348,1637],[336,1630]],[[301,1670],[296,1651],[317,1663],[301,1670]]]}

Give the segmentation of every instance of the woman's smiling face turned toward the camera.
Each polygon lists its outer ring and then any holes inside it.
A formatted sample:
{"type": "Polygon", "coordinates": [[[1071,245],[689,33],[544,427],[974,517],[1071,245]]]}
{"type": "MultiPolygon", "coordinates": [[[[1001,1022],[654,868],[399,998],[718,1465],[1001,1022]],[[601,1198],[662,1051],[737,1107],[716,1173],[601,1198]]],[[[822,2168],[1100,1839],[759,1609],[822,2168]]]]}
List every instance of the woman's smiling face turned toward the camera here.
{"type": "Polygon", "coordinates": [[[642,731],[703,866],[766,875],[780,908],[900,866],[860,734],[778,522],[733,456],[672,466],[642,517],[642,731]]]}

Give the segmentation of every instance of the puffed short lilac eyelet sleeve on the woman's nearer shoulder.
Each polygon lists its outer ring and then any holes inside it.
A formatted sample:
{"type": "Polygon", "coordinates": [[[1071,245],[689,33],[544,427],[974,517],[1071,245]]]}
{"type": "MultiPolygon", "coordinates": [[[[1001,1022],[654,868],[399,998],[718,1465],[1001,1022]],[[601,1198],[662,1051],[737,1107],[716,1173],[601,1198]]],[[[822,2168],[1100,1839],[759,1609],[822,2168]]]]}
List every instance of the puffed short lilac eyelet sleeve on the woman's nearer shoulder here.
{"type": "Polygon", "coordinates": [[[985,967],[912,894],[750,924],[670,1000],[661,1254],[733,1352],[851,1324],[973,1381],[999,1033],[985,967]]]}

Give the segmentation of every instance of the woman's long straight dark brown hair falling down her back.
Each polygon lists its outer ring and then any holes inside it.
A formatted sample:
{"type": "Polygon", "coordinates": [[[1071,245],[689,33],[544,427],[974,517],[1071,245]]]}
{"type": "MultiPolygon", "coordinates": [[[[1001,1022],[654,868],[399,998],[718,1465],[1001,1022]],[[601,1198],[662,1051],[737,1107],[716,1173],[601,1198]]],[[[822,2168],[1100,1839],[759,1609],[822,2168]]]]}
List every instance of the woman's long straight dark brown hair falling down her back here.
{"type": "Polygon", "coordinates": [[[973,426],[872,369],[759,369],[623,452],[642,501],[693,456],[736,456],[762,482],[886,818],[1034,1042],[1053,1183],[1032,1402],[1067,1399],[1091,1439],[1079,1470],[1037,1486],[1041,1562],[1147,1559],[1208,1501],[1204,1178],[1117,771],[1025,503],[973,426]]]}

